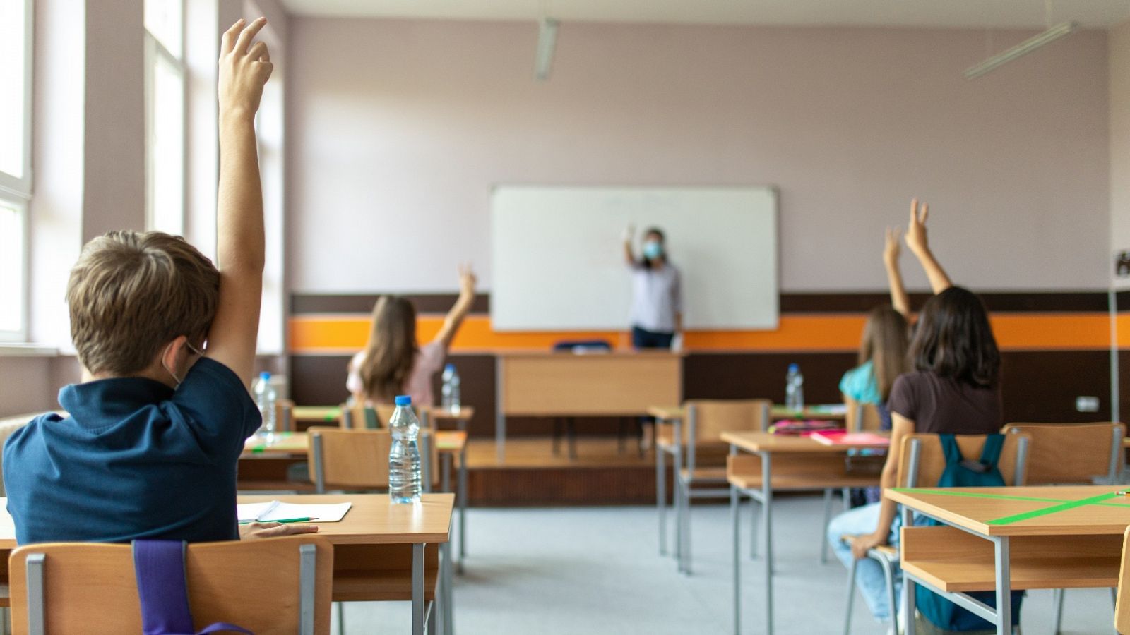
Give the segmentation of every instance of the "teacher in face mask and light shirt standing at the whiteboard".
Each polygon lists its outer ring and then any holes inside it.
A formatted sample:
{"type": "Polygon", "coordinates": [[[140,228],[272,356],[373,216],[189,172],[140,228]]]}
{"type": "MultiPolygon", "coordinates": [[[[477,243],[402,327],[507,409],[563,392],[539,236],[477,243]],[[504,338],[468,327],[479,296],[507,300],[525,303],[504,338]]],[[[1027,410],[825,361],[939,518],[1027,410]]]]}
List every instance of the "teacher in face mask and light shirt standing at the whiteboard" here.
{"type": "Polygon", "coordinates": [[[681,348],[683,282],[667,259],[663,232],[652,227],[643,235],[643,258],[632,251],[635,227],[624,230],[624,259],[632,269],[632,346],[681,348]]]}

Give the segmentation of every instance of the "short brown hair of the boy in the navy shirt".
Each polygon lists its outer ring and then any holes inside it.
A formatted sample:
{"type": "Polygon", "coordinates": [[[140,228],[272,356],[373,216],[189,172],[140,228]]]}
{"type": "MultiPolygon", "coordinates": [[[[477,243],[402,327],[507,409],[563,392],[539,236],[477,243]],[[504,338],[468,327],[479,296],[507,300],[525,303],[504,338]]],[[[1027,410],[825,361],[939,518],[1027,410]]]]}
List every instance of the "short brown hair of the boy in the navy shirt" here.
{"type": "Polygon", "coordinates": [[[133,375],[180,336],[203,342],[219,305],[219,271],[180,236],[110,232],[82,247],[67,304],[82,366],[133,375]]]}

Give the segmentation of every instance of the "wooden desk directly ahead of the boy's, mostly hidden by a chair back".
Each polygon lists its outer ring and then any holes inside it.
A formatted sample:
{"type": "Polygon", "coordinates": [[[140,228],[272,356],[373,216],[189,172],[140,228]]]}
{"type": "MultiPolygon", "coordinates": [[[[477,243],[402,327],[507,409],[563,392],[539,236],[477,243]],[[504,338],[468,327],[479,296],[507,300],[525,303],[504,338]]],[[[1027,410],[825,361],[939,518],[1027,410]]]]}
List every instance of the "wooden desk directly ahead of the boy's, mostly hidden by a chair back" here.
{"type": "MultiPolygon", "coordinates": [[[[472,411],[473,412],[473,411],[472,411]]],[[[459,456],[455,495],[459,508],[459,559],[457,568],[463,572],[463,558],[467,555],[467,433],[463,430],[436,430],[436,452],[440,454],[440,488],[452,492],[451,466],[459,456]]],[[[267,444],[262,437],[247,438],[241,461],[277,460],[286,463],[297,463],[306,460],[310,436],[304,432],[279,433],[272,443],[267,444]]],[[[269,486],[272,487],[272,486],[269,486]]],[[[281,487],[280,489],[286,489],[281,487]]]]}

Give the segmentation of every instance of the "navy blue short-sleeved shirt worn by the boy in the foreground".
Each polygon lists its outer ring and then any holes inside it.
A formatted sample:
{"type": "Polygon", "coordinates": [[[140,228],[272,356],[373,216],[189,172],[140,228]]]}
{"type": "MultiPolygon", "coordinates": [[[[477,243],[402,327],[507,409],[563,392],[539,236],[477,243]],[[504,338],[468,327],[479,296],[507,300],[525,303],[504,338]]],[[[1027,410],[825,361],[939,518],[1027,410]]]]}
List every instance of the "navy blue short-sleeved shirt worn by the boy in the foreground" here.
{"type": "Polygon", "coordinates": [[[3,446],[20,545],[238,539],[236,463],[262,417],[240,377],[198,360],[174,391],[144,377],[73,384],[3,446]]]}

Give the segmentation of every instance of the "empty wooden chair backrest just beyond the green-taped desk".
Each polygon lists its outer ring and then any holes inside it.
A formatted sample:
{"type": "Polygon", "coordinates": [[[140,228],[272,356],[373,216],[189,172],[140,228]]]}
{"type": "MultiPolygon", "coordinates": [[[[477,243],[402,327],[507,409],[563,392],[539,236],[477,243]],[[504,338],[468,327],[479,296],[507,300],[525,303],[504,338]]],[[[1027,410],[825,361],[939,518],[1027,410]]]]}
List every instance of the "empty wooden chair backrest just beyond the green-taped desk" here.
{"type": "Polygon", "coordinates": [[[1123,424],[1009,424],[1005,433],[1032,437],[1028,485],[1116,482],[1122,473],[1123,424]]]}

